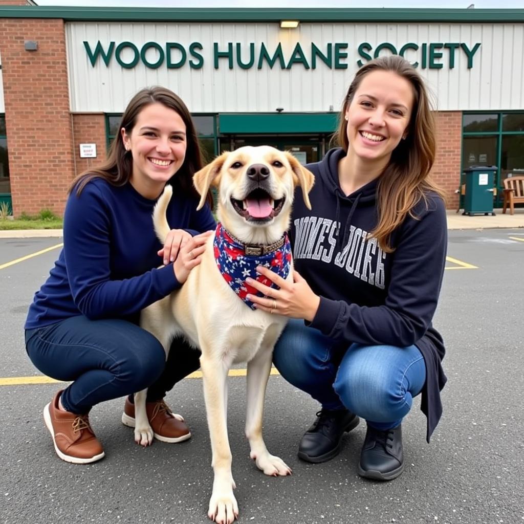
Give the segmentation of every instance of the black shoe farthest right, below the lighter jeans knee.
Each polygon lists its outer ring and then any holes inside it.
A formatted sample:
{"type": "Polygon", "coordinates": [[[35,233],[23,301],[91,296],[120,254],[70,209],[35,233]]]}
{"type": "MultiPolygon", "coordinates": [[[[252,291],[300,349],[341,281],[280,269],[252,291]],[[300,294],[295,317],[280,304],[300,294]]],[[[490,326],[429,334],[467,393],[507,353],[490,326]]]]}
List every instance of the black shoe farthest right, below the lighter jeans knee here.
{"type": "Polygon", "coordinates": [[[358,474],[378,481],[392,481],[402,473],[403,469],[401,425],[385,431],[368,425],[358,464],[358,474]]]}

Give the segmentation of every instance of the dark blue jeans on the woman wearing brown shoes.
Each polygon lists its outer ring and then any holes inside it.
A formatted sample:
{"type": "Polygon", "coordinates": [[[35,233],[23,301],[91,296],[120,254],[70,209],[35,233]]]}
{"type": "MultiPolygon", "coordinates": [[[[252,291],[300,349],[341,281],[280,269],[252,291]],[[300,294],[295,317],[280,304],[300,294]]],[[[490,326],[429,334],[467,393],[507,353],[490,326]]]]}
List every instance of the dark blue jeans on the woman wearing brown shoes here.
{"type": "Polygon", "coordinates": [[[166,362],[160,342],[132,322],[85,316],[26,330],[26,350],[43,374],[73,381],[61,397],[73,413],[144,388],[148,400],[159,400],[200,366],[200,352],[182,339],[173,341],[166,362]]]}

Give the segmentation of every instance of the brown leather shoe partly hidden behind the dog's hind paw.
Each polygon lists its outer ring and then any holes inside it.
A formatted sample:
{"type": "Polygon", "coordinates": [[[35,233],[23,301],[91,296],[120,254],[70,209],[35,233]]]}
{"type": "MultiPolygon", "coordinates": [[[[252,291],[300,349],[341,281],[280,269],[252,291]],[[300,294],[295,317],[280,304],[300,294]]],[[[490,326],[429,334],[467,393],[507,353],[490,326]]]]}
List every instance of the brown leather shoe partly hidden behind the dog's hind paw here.
{"type": "MultiPolygon", "coordinates": [[[[146,402],[147,420],[153,430],[155,439],[162,442],[182,442],[191,438],[191,431],[184,418],[173,413],[163,400],[146,402]]],[[[122,423],[130,428],[135,427],[135,405],[126,397],[122,423]]]]}

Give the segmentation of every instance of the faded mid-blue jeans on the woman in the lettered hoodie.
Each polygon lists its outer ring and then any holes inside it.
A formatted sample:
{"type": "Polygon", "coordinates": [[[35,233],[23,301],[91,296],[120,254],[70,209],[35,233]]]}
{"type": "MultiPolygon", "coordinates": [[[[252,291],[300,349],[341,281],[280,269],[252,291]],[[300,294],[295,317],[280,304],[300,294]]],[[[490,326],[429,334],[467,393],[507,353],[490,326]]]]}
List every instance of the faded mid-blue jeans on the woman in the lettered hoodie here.
{"type": "Polygon", "coordinates": [[[424,358],[416,346],[341,346],[303,320],[289,321],[273,362],[323,408],[347,408],[379,430],[402,421],[425,382],[424,358]]]}

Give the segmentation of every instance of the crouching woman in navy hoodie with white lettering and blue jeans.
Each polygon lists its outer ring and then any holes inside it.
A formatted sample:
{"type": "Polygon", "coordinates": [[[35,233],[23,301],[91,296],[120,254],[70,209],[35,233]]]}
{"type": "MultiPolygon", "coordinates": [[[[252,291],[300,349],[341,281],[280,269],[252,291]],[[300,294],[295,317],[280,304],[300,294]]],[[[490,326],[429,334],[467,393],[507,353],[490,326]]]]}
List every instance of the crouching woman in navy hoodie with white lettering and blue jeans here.
{"type": "Polygon", "coordinates": [[[250,281],[257,307],[289,316],[274,353],[279,372],[322,409],[299,457],[324,462],[362,417],[358,473],[402,473],[401,421],[421,394],[427,440],[438,423],[444,345],[432,326],[446,255],[443,194],[429,172],[435,128],[420,75],[398,57],[355,75],[341,112],[340,148],[315,175],[291,222],[293,283],[259,268],[279,290],[250,281]]]}

